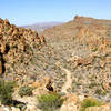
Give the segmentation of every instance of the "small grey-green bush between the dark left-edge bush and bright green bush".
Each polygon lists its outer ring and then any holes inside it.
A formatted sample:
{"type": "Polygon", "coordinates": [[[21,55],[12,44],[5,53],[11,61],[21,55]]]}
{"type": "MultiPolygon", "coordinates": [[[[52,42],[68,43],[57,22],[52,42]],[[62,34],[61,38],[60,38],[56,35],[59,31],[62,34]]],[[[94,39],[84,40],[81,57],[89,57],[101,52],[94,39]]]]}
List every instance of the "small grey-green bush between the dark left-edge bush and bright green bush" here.
{"type": "Polygon", "coordinates": [[[30,88],[28,85],[21,87],[18,93],[19,93],[20,97],[31,95],[32,94],[32,88],[30,88]]]}

